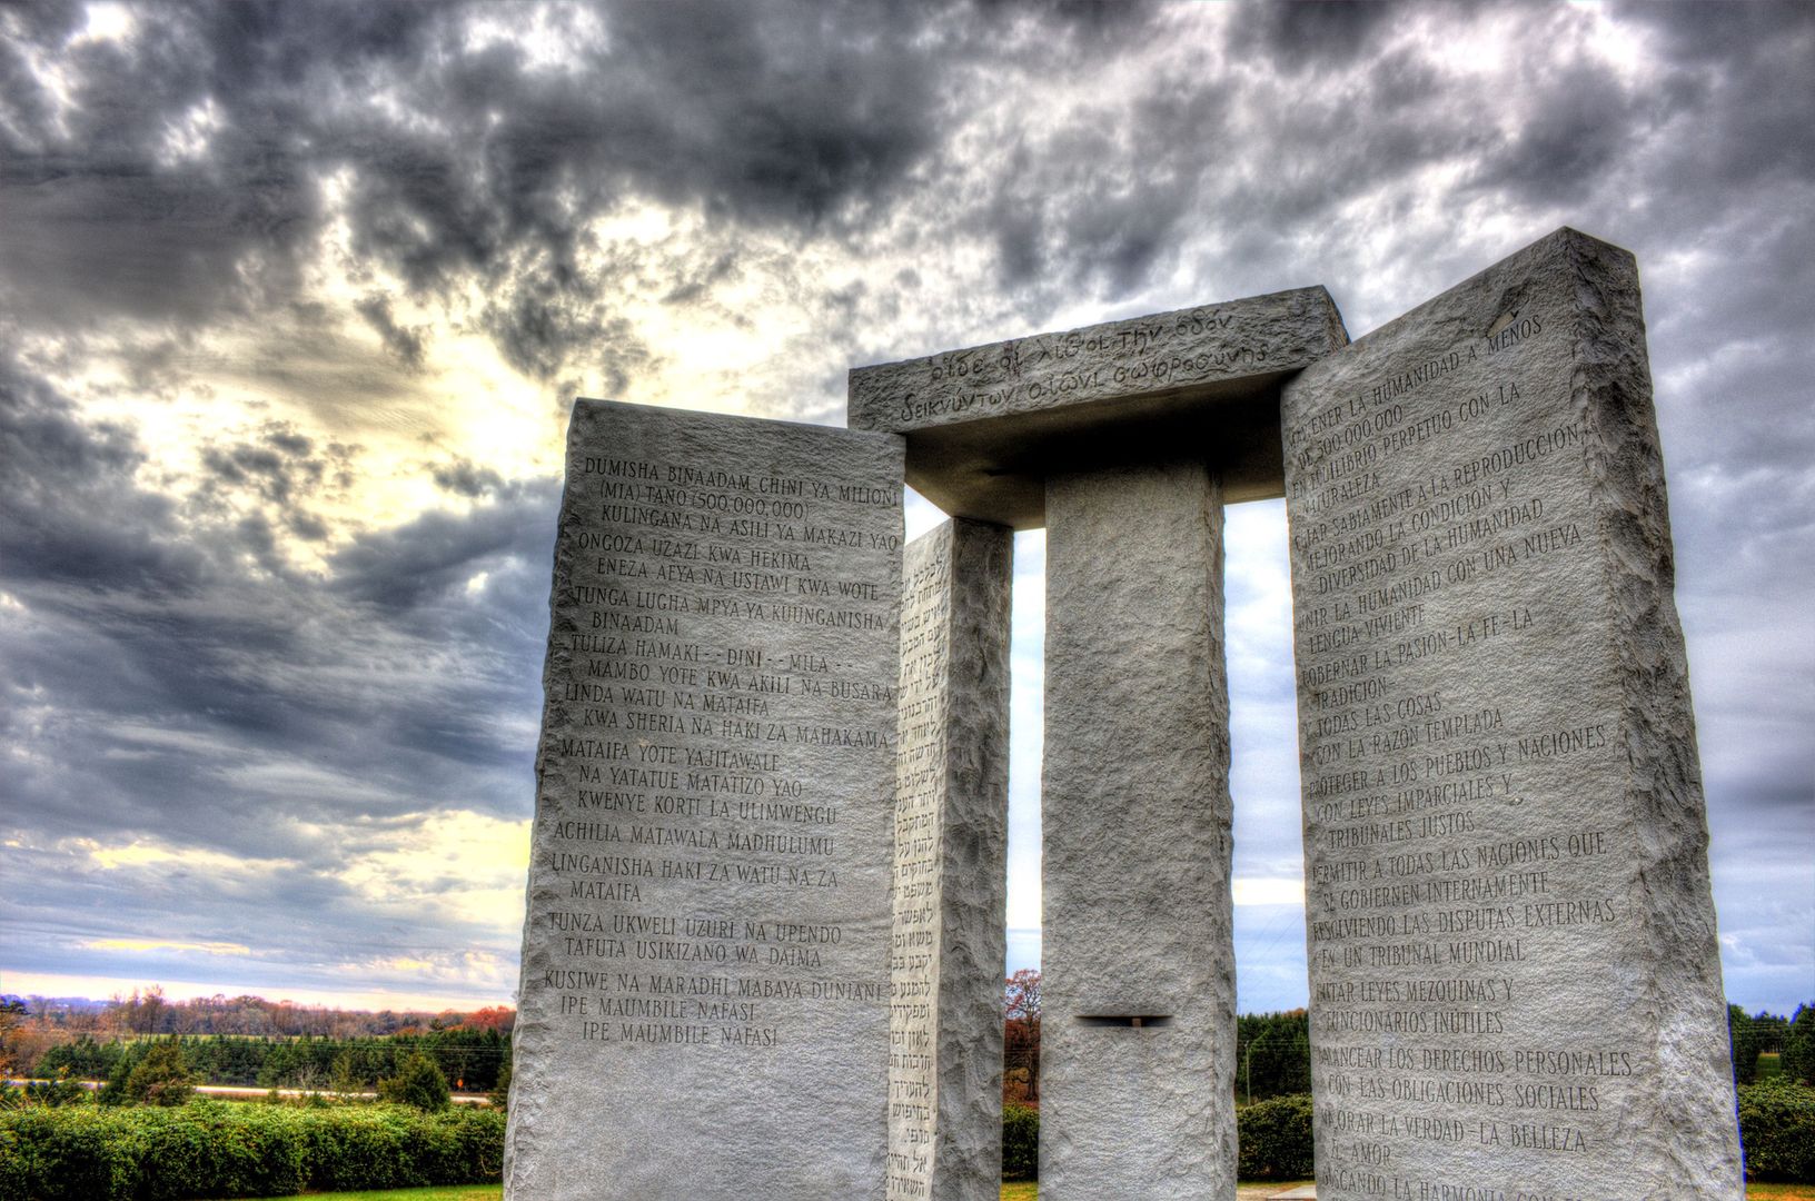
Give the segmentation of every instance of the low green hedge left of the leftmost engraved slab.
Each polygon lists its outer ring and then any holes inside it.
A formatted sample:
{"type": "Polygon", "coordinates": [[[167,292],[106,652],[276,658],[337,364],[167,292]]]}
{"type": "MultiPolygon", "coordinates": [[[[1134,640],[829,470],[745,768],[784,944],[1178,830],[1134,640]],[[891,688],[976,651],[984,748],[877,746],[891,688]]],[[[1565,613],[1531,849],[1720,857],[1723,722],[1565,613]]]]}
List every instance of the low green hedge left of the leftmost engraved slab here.
{"type": "Polygon", "coordinates": [[[503,1174],[505,1116],[401,1105],[20,1108],[0,1114],[0,1201],[289,1197],[303,1188],[479,1185],[503,1174]]]}

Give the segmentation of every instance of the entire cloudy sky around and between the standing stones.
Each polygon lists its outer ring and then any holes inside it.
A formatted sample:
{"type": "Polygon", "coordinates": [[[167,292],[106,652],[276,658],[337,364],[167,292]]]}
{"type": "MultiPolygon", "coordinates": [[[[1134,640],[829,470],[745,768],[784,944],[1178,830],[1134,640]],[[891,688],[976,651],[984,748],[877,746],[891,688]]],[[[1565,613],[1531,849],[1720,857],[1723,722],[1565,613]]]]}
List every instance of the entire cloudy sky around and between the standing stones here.
{"type": "MultiPolygon", "coordinates": [[[[1815,998],[1810,63],[1799,4],[0,9],[0,989],[510,998],[574,395],[842,423],[853,365],[1312,283],[1359,336],[1566,223],[1644,278],[1728,992],[1815,998]]],[[[1229,581],[1276,1009],[1280,504],[1229,581]]]]}

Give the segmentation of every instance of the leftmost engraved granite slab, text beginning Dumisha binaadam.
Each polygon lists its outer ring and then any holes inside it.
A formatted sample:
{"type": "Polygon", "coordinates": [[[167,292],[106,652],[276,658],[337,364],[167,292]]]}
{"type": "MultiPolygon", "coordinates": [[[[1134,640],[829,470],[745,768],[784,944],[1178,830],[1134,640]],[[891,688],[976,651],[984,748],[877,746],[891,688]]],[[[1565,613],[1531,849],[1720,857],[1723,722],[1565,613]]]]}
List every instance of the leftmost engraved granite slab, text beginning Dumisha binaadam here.
{"type": "Polygon", "coordinates": [[[884,1188],[902,444],[579,401],[505,1188],[884,1188]]]}

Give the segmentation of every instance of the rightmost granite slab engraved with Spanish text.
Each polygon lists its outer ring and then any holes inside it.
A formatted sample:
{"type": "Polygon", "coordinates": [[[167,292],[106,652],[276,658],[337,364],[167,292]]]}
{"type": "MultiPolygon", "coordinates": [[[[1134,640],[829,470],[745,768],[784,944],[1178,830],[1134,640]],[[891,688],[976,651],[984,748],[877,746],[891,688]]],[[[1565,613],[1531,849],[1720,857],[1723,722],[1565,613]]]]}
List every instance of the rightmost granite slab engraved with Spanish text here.
{"type": "Polygon", "coordinates": [[[1318,1196],[1741,1197],[1630,254],[1285,388],[1318,1196]]]}

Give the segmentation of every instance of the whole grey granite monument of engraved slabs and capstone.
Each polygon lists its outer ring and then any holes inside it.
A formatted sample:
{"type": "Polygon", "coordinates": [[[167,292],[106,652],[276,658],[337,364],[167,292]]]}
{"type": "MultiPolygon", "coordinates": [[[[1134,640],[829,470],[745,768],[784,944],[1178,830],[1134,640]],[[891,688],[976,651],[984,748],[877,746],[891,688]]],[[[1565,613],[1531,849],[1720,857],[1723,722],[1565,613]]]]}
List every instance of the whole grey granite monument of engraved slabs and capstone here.
{"type": "Polygon", "coordinates": [[[506,1196],[996,1196],[1044,526],[1042,1197],[1232,1197],[1221,513],[1280,495],[1318,1196],[1742,1196],[1630,254],[857,368],[849,426],[575,408],[506,1196]]]}

